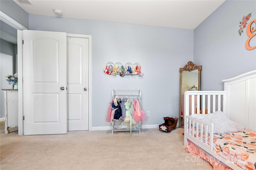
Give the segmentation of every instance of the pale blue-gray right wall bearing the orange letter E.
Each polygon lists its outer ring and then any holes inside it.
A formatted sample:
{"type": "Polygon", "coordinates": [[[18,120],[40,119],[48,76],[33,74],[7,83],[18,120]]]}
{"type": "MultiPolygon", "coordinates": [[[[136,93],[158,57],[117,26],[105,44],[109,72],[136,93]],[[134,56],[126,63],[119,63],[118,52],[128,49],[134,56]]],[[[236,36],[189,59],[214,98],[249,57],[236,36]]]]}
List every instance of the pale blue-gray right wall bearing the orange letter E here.
{"type": "MultiPolygon", "coordinates": [[[[202,65],[201,90],[224,90],[222,80],[256,70],[256,49],[245,48],[246,29],[238,35],[239,22],[249,13],[248,23],[256,20],[255,0],[226,0],[194,30],[194,63],[202,65]]],[[[256,45],[256,37],[251,43],[256,45]]]]}

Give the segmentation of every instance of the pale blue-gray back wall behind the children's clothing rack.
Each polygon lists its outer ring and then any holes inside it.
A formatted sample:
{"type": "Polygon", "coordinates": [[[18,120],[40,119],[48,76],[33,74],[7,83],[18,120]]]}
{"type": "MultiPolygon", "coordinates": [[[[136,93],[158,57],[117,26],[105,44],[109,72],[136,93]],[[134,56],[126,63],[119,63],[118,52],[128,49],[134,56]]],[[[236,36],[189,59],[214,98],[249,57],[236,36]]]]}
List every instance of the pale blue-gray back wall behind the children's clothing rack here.
{"type": "Polygon", "coordinates": [[[178,117],[179,68],[193,60],[193,30],[29,15],[29,28],[92,35],[92,126],[106,122],[113,88],[142,90],[141,108],[150,111],[143,125],[178,117]],[[140,63],[143,77],[109,76],[108,61],[140,63]]]}

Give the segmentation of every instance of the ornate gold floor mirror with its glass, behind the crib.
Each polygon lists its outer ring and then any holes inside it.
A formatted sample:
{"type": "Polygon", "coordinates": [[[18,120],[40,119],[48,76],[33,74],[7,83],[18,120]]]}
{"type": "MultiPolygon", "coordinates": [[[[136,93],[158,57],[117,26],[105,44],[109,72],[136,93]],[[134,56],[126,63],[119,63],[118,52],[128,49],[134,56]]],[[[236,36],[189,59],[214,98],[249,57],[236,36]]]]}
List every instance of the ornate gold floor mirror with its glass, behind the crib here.
{"type": "Polygon", "coordinates": [[[200,90],[202,66],[197,66],[189,61],[180,68],[180,102],[179,102],[179,126],[184,126],[184,92],[188,90],[200,90]]]}

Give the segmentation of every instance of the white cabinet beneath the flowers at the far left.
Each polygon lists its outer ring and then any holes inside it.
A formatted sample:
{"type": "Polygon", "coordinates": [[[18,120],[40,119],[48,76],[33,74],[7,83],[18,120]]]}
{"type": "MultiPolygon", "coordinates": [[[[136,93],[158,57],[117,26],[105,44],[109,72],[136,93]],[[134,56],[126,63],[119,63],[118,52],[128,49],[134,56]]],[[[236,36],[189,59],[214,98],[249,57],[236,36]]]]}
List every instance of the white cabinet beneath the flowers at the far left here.
{"type": "Polygon", "coordinates": [[[18,90],[4,90],[4,133],[10,133],[9,127],[18,127],[18,90]]]}

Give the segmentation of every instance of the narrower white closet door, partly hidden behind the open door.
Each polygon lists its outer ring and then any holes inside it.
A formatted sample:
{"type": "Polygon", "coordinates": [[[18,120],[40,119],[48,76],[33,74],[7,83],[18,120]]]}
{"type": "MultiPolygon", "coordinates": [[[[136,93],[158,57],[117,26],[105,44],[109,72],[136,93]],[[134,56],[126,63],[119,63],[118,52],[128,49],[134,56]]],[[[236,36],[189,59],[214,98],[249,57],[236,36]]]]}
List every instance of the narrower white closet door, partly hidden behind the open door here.
{"type": "Polygon", "coordinates": [[[88,38],[67,38],[68,131],[88,130],[88,38]]]}

